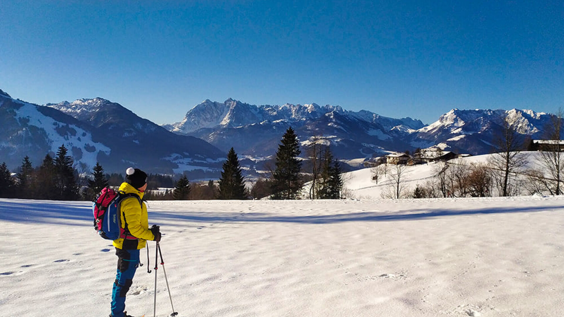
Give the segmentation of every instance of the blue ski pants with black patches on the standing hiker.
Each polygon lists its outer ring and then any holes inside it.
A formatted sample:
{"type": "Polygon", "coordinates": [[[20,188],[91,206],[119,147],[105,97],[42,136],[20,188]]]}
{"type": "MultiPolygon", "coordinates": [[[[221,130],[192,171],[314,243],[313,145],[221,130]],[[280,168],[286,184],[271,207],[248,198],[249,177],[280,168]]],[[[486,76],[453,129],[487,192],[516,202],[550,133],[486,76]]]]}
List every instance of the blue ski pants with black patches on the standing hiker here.
{"type": "Polygon", "coordinates": [[[125,295],[133,283],[139,266],[139,250],[116,248],[117,274],[112,290],[112,317],[124,317],[125,295]]]}

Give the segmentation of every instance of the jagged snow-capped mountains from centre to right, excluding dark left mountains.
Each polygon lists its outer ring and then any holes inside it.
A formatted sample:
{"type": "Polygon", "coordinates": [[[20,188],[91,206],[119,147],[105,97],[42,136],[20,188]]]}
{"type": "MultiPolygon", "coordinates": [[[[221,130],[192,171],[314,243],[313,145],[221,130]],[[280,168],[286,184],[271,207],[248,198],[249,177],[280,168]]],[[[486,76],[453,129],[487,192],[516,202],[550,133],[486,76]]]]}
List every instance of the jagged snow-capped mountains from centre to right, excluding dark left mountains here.
{"type": "Polygon", "coordinates": [[[409,117],[395,119],[332,105],[257,106],[227,99],[224,103],[205,100],[182,121],[164,127],[204,139],[223,151],[233,146],[244,155],[264,157],[276,151],[281,135],[292,126],[303,146],[320,137],[337,157],[350,160],[433,146],[472,155],[490,153],[505,117],[523,139],[543,138],[550,123],[550,115],[531,110],[452,109],[425,126],[409,117]]]}

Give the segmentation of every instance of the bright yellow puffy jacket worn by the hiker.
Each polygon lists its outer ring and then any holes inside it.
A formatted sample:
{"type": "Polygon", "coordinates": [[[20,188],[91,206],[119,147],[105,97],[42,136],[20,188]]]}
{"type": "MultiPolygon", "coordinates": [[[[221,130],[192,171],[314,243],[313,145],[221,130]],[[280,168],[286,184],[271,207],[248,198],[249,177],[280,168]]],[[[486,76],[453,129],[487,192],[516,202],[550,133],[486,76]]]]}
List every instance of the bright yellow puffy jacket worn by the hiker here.
{"type": "MultiPolygon", "coordinates": [[[[121,183],[120,191],[135,193],[135,195],[139,196],[139,199],[143,199],[144,193],[138,191],[129,183],[121,183]]],[[[113,240],[113,246],[116,248],[143,249],[146,246],[146,240],[155,240],[155,236],[149,230],[147,206],[144,203],[139,204],[139,200],[135,197],[126,197],[121,201],[120,217],[121,227],[125,228],[127,223],[127,229],[133,237],[128,236],[127,239],[113,240]],[[125,243],[124,240],[126,240],[125,243]]]]}

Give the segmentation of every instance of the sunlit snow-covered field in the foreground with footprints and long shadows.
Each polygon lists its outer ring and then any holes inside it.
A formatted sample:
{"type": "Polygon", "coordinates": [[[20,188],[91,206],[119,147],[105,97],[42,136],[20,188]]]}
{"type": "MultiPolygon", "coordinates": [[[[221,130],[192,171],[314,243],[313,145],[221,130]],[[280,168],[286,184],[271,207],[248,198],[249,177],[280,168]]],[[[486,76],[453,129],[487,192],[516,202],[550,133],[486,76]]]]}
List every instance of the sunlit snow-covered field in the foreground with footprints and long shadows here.
{"type": "MultiPolygon", "coordinates": [[[[187,316],[560,316],[564,197],[151,201],[187,316]]],[[[0,316],[107,316],[89,202],[0,199],[0,316]]],[[[152,268],[155,243],[149,243],[152,268]]],[[[131,315],[153,315],[140,267],[131,315]]],[[[172,312],[158,270],[157,316],[172,312]]]]}

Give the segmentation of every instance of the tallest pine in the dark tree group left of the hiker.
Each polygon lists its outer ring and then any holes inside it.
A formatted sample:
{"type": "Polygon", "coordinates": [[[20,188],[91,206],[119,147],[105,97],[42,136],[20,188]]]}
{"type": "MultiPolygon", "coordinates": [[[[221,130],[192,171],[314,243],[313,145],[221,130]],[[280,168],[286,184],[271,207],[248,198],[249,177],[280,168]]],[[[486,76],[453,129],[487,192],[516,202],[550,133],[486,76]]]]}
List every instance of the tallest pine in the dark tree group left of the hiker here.
{"type": "Polygon", "coordinates": [[[78,185],[74,176],[72,157],[67,155],[67,148],[64,144],[57,151],[55,158],[56,176],[56,192],[58,199],[75,200],[78,197],[78,185]]]}

